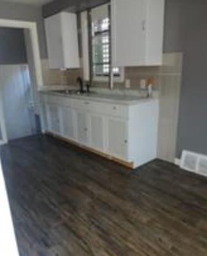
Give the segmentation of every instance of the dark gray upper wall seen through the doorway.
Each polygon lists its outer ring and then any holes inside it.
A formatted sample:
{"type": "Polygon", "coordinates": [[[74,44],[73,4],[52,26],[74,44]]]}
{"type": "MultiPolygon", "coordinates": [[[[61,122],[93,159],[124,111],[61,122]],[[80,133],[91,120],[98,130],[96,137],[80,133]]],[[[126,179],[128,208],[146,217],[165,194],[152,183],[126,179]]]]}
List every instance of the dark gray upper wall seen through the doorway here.
{"type": "Polygon", "coordinates": [[[23,29],[0,27],[0,65],[27,63],[23,29]]]}

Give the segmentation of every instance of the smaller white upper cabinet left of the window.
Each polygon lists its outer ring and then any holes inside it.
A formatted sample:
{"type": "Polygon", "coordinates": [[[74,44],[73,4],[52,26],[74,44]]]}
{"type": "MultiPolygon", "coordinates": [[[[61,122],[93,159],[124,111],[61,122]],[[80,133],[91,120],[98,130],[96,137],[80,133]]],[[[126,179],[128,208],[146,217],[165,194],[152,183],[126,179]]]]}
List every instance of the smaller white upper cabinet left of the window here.
{"type": "Polygon", "coordinates": [[[58,13],[45,19],[50,68],[79,68],[77,18],[58,13]]]}

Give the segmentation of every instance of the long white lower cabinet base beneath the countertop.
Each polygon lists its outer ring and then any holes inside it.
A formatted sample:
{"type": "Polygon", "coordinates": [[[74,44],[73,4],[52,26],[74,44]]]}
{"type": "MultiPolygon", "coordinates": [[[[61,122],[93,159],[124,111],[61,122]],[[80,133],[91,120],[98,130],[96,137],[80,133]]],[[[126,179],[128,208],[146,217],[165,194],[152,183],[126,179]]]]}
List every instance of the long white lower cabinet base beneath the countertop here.
{"type": "Polygon", "coordinates": [[[42,120],[62,138],[138,167],[157,157],[158,101],[112,104],[70,97],[42,97],[42,120]]]}

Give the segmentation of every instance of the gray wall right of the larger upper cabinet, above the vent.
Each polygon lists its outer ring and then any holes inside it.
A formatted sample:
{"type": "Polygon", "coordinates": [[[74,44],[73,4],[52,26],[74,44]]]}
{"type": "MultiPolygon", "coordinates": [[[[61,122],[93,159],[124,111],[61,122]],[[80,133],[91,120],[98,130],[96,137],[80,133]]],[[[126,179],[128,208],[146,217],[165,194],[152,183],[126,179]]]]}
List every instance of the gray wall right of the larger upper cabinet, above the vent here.
{"type": "Polygon", "coordinates": [[[182,51],[177,157],[183,149],[207,154],[207,2],[166,0],[164,51],[182,51]]]}

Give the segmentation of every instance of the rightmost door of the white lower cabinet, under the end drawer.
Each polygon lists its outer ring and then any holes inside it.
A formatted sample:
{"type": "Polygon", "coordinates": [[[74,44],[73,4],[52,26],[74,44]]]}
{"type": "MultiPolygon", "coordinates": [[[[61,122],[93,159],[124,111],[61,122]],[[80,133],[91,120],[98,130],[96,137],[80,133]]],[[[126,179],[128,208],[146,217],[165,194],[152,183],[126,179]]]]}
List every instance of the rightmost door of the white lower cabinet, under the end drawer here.
{"type": "Polygon", "coordinates": [[[119,118],[107,118],[107,151],[113,157],[127,160],[128,129],[127,121],[119,118]]]}

